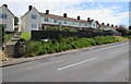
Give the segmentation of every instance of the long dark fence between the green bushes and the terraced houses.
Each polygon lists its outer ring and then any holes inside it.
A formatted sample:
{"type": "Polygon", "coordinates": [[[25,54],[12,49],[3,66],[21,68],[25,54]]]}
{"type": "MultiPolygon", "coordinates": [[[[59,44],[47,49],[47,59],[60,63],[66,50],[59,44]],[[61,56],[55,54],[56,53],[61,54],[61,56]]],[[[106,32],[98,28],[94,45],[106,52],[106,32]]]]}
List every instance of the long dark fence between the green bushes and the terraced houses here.
{"type": "Polygon", "coordinates": [[[94,36],[110,36],[110,35],[120,35],[111,31],[108,32],[61,32],[61,31],[32,31],[32,40],[39,40],[46,38],[59,38],[62,37],[94,37],[94,36]]]}

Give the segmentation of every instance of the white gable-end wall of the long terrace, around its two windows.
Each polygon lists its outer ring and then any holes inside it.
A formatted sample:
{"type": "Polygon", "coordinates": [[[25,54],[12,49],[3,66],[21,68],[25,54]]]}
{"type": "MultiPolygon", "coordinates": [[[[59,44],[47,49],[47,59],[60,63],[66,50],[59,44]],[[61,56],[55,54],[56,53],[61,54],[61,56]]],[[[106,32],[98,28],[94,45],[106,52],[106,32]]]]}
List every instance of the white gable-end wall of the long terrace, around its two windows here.
{"type": "Polygon", "coordinates": [[[40,14],[33,8],[27,14],[21,17],[20,32],[31,32],[32,29],[38,31],[40,24],[40,14]],[[36,15],[36,20],[33,20],[32,15],[36,15]],[[36,28],[33,28],[32,24],[36,24],[36,28]]]}

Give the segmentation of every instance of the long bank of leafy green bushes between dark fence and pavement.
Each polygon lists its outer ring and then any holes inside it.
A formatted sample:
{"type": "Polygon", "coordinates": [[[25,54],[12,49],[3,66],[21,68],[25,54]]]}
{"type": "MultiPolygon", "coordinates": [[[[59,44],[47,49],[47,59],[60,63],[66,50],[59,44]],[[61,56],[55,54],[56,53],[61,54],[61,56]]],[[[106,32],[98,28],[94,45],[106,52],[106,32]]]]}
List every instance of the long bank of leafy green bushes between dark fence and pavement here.
{"type": "Polygon", "coordinates": [[[61,52],[71,49],[85,48],[95,45],[128,40],[121,36],[96,36],[93,38],[67,37],[49,39],[48,41],[27,41],[24,57],[34,57],[45,53],[61,52]]]}

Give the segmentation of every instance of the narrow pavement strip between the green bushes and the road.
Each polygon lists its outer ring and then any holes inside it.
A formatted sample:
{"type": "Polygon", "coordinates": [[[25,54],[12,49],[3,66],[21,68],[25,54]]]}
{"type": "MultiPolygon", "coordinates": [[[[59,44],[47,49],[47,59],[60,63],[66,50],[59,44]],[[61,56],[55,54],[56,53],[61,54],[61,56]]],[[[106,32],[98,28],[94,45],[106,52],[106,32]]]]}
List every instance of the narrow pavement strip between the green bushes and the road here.
{"type": "Polygon", "coordinates": [[[111,45],[122,44],[122,43],[126,43],[126,41],[118,41],[118,43],[112,43],[112,44],[106,44],[106,45],[73,49],[73,50],[68,50],[68,51],[63,51],[63,52],[56,52],[56,53],[43,55],[43,56],[36,56],[36,57],[29,57],[29,58],[15,58],[15,59],[12,59],[10,61],[2,61],[2,64],[0,64],[0,68],[21,64],[21,63],[26,63],[26,62],[40,60],[40,59],[45,59],[45,58],[50,58],[50,57],[58,57],[58,56],[72,53],[72,52],[78,52],[78,51],[82,51],[82,50],[92,50],[92,49],[103,48],[103,47],[107,47],[107,46],[111,46],[111,45]]]}

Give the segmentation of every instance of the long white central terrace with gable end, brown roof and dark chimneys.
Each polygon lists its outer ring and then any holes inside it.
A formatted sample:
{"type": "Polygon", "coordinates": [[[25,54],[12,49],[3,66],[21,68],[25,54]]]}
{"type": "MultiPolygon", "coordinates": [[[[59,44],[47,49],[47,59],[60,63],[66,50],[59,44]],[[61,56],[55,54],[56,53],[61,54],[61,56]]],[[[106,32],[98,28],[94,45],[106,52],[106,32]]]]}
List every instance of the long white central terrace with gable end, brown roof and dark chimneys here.
{"type": "Polygon", "coordinates": [[[28,11],[21,17],[19,32],[44,31],[48,26],[68,26],[76,29],[95,29],[98,27],[94,20],[87,19],[85,21],[81,20],[80,16],[72,19],[68,17],[67,13],[63,16],[49,14],[49,10],[46,10],[46,13],[41,13],[35,7],[29,5],[28,11]]]}

